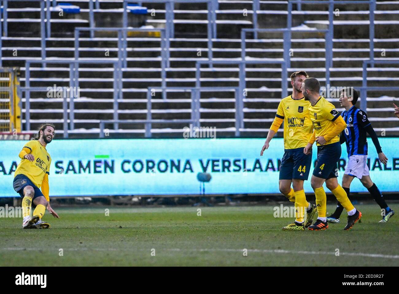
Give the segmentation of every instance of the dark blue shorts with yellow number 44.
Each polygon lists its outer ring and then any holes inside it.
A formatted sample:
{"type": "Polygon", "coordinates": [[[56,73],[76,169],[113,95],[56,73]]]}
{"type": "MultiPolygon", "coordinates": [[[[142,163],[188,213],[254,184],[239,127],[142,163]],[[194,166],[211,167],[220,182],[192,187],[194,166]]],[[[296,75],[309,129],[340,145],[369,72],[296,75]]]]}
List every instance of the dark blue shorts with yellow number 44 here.
{"type": "Polygon", "coordinates": [[[312,152],[303,153],[303,147],[285,150],[281,158],[280,180],[308,180],[312,165],[312,152]]]}

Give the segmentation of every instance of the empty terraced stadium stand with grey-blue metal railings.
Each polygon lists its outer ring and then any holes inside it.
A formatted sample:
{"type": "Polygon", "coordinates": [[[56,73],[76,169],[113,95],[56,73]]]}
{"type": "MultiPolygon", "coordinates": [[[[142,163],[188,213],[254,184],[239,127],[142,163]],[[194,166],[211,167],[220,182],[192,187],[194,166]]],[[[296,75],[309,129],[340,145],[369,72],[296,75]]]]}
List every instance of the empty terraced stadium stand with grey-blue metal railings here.
{"type": "Polygon", "coordinates": [[[194,121],[219,137],[266,136],[304,69],[327,88],[364,87],[373,126],[399,134],[397,1],[1,3],[0,66],[20,67],[24,131],[46,121],[65,137],[165,137],[194,121]]]}

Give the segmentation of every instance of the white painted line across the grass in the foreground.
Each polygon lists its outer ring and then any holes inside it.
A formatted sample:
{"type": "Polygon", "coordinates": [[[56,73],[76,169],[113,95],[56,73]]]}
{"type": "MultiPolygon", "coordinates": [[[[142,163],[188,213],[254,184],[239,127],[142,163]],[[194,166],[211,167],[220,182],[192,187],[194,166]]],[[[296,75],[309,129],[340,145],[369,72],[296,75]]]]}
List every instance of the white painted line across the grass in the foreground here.
{"type": "MultiPolygon", "coordinates": [[[[65,251],[120,251],[115,248],[63,248],[65,251]]],[[[1,250],[11,250],[11,251],[37,251],[37,248],[0,248],[1,250]]],[[[135,249],[137,250],[137,249],[135,249]]],[[[148,249],[138,249],[142,251],[147,251],[148,249]]],[[[167,249],[168,251],[192,251],[192,252],[243,252],[243,249],[179,249],[179,248],[171,248],[167,249]]],[[[326,252],[326,251],[292,251],[292,250],[282,250],[282,249],[247,249],[248,252],[260,252],[260,253],[285,253],[285,254],[320,254],[320,255],[335,255],[335,252],[326,252]]],[[[340,252],[340,255],[348,255],[348,256],[364,256],[364,257],[373,257],[373,258],[399,258],[399,255],[384,255],[384,254],[370,254],[370,253],[350,253],[350,252],[340,252]]]]}

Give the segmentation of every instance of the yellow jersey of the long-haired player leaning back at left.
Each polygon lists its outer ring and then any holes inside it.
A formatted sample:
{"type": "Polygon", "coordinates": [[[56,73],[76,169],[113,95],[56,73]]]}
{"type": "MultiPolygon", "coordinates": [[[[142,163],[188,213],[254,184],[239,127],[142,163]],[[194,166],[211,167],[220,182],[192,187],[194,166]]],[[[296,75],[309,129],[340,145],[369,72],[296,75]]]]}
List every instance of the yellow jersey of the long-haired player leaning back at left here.
{"type": "Polygon", "coordinates": [[[45,174],[50,172],[51,157],[46,148],[38,140],[31,140],[24,145],[23,150],[35,157],[33,162],[28,159],[21,159],[15,171],[14,177],[18,174],[27,176],[36,187],[40,188],[45,174]]]}

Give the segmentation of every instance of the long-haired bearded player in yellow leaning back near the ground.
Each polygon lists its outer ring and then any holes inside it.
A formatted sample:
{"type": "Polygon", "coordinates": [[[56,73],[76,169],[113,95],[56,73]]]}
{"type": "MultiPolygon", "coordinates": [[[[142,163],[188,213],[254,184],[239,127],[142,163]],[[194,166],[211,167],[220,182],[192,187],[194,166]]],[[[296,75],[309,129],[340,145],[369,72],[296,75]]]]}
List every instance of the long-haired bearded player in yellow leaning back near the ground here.
{"type": "Polygon", "coordinates": [[[35,138],[26,143],[19,154],[21,162],[14,174],[13,187],[23,198],[22,228],[24,229],[49,228],[50,224],[41,220],[46,208],[55,218],[59,218],[50,206],[48,175],[51,157],[46,150],[47,144],[54,136],[54,125],[42,124],[35,138]],[[32,203],[36,208],[30,217],[32,203]]]}

